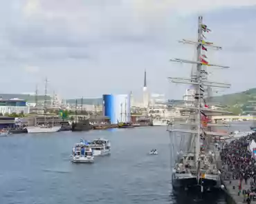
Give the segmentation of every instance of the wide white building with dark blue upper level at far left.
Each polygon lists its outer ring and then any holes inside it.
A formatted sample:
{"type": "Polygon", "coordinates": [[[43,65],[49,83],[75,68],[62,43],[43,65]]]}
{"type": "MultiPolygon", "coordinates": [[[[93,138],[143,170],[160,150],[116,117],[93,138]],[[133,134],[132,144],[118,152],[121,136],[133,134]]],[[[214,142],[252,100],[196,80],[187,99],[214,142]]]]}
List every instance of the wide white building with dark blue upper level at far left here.
{"type": "Polygon", "coordinates": [[[0,113],[1,114],[12,114],[12,113],[24,113],[29,114],[30,108],[26,101],[22,99],[10,99],[4,100],[0,99],[0,113]]]}

